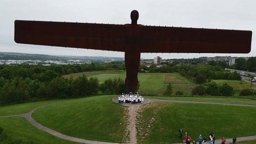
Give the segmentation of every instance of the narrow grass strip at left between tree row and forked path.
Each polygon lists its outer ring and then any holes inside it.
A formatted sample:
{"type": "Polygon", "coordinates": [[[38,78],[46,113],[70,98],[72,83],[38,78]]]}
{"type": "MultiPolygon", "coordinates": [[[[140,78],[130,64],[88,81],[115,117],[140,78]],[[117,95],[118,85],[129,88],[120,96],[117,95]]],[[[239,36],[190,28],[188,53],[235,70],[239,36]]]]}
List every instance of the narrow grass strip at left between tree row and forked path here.
{"type": "Polygon", "coordinates": [[[40,102],[29,102],[24,104],[14,104],[10,106],[2,106],[0,107],[0,116],[6,116],[11,114],[22,114],[29,112],[31,109],[36,108],[38,106],[42,106],[44,104],[48,104],[51,102],[57,102],[60,100],[46,100],[40,102]]]}

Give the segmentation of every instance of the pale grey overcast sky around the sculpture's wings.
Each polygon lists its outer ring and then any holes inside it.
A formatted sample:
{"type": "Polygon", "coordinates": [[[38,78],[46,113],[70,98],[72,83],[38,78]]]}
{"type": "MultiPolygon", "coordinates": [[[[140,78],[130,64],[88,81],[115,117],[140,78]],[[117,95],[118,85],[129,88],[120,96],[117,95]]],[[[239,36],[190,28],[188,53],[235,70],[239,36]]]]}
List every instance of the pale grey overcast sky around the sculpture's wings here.
{"type": "Polygon", "coordinates": [[[127,24],[132,10],[139,12],[138,24],[252,30],[249,54],[142,54],[141,58],[256,56],[256,0],[0,0],[0,52],[124,57],[123,52],[16,44],[14,20],[127,24]]]}

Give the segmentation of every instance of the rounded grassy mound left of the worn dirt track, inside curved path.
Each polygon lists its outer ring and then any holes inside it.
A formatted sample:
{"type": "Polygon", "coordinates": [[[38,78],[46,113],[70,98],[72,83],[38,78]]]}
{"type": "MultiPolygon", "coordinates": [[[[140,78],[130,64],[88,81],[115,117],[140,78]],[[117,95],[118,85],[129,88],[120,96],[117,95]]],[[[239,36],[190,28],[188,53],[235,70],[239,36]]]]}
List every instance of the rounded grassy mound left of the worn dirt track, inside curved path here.
{"type": "Polygon", "coordinates": [[[63,134],[89,140],[123,142],[124,107],[113,96],[94,96],[52,104],[36,110],[32,117],[63,134]],[[120,124],[121,123],[121,124],[120,124]]]}

